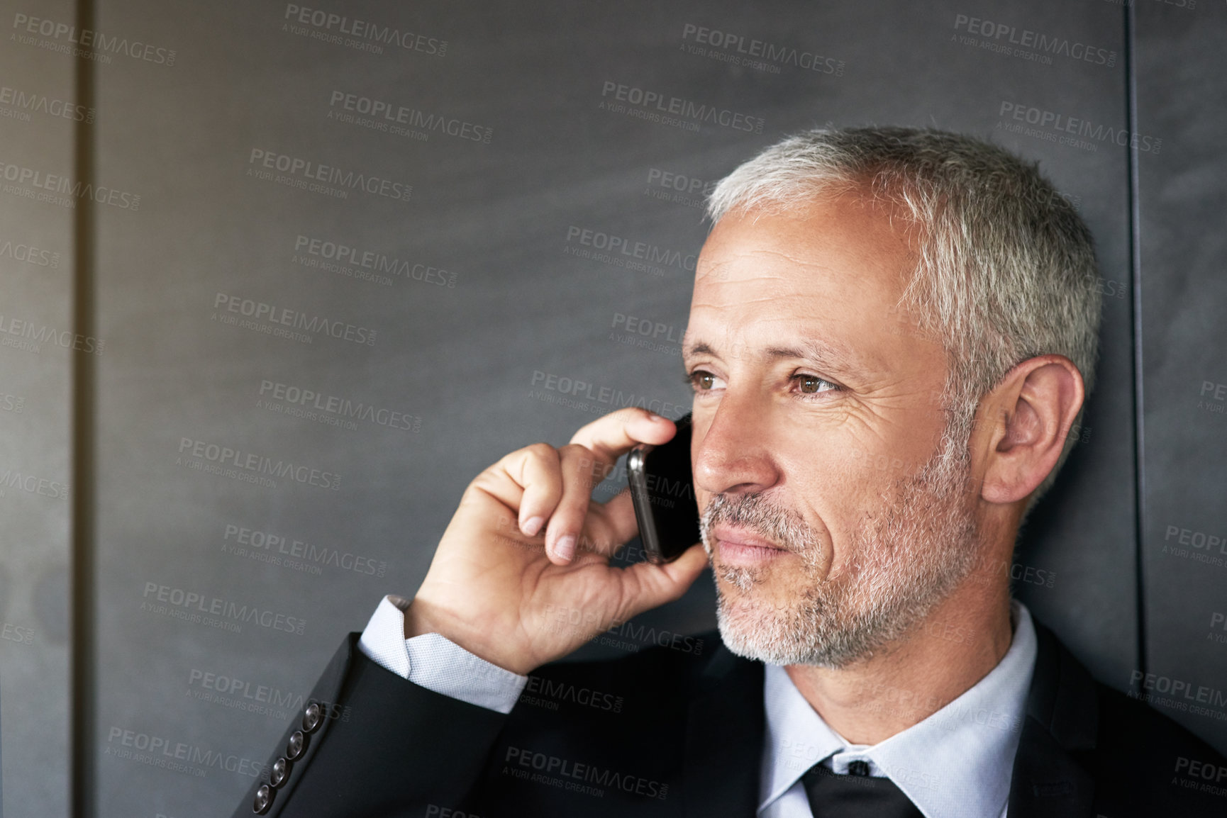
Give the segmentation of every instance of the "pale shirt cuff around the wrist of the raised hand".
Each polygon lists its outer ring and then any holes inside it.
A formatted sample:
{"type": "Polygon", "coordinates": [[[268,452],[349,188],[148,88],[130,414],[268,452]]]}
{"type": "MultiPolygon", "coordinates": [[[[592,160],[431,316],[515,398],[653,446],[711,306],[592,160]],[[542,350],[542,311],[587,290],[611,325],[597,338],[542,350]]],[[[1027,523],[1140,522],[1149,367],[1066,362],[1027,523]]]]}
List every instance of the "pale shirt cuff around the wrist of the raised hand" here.
{"type": "Polygon", "coordinates": [[[400,596],[385,596],[362,632],[358,649],[371,661],[413,684],[480,708],[510,713],[529,677],[492,665],[437,633],[405,639],[409,603],[400,596]]]}

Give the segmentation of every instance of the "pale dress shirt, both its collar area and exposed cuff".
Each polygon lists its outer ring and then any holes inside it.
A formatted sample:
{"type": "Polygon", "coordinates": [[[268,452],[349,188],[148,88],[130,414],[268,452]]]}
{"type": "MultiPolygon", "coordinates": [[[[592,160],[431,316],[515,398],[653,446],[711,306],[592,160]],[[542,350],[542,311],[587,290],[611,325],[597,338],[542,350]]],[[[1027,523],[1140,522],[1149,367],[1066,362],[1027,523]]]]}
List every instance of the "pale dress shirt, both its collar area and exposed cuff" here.
{"type": "MultiPolygon", "coordinates": [[[[439,634],[405,639],[407,607],[409,600],[384,597],[362,632],[362,652],[436,693],[510,713],[528,677],[491,665],[439,634]]],[[[822,762],[847,773],[850,762],[864,760],[870,775],[890,778],[925,818],[1005,818],[1037,651],[1026,606],[1011,602],[1010,618],[1010,650],[988,676],[924,721],[871,747],[847,742],[810,706],[783,667],[767,665],[758,816],[814,818],[801,784],[805,771],[822,762]]],[[[890,700],[892,692],[885,693],[890,700]]],[[[903,690],[893,693],[907,697],[903,690]]]]}

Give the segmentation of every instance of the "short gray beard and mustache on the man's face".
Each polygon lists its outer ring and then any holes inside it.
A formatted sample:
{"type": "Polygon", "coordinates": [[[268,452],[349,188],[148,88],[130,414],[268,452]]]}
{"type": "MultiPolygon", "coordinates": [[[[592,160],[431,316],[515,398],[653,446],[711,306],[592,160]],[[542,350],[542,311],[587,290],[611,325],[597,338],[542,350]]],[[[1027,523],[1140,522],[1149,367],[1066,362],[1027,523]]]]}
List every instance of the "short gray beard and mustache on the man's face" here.
{"type": "Polygon", "coordinates": [[[894,482],[880,518],[867,518],[855,531],[850,560],[836,579],[814,576],[820,546],[800,514],[772,505],[763,493],[714,495],[701,520],[709,558],[712,529],[736,524],[795,553],[814,578],[795,603],[775,607],[755,598],[766,579],[762,570],[717,565],[717,621],[729,650],[769,665],[847,667],[898,640],[945,600],[978,554],[966,440],[944,443],[917,473],[894,482]],[[725,594],[721,579],[739,592],[725,594]]]}

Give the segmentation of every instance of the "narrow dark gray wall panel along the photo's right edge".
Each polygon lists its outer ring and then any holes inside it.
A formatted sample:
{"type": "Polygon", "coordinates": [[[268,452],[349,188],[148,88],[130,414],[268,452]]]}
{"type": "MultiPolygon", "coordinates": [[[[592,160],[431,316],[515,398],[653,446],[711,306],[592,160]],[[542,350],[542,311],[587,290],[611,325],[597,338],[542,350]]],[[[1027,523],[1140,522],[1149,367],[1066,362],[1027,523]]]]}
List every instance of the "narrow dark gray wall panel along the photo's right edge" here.
{"type": "Polygon", "coordinates": [[[1222,5],[1147,5],[1137,13],[1136,129],[1162,137],[1163,150],[1137,163],[1141,565],[1153,677],[1133,690],[1220,748],[1227,746],[1225,28],[1222,5]]]}

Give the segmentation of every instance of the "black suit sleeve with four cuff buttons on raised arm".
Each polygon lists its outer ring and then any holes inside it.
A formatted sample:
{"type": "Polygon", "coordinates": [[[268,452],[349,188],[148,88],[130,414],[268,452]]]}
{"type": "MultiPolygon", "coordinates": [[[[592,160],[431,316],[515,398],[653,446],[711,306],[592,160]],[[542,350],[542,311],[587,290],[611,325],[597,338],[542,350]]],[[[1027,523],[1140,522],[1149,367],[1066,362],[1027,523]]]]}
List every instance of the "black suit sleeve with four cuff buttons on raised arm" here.
{"type": "Polygon", "coordinates": [[[357,643],[350,634],[337,650],[234,818],[425,816],[464,803],[507,716],[404,679],[357,643]]]}

